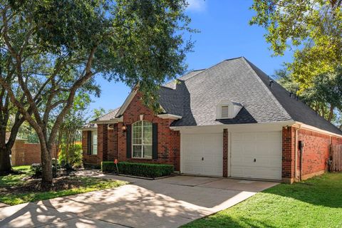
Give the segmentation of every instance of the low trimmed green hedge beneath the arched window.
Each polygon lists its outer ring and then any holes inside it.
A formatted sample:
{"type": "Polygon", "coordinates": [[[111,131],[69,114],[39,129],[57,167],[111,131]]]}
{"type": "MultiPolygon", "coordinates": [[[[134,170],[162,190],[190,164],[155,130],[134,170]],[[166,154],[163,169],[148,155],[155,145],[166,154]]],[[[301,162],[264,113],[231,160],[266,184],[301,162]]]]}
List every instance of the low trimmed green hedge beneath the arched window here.
{"type": "MultiPolygon", "coordinates": [[[[120,174],[133,175],[139,177],[163,177],[171,175],[173,165],[160,165],[150,163],[118,162],[120,174]]],[[[114,162],[102,162],[102,172],[117,172],[114,162]]]]}

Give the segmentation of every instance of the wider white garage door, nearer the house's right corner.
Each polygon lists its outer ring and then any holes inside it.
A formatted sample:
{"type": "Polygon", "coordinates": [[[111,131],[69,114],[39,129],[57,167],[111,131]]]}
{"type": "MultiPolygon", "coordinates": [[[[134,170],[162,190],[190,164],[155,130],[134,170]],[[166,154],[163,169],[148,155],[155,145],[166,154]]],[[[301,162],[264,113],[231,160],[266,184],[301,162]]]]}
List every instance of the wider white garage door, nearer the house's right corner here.
{"type": "Polygon", "coordinates": [[[281,180],[281,132],[232,133],[232,177],[281,180]]]}

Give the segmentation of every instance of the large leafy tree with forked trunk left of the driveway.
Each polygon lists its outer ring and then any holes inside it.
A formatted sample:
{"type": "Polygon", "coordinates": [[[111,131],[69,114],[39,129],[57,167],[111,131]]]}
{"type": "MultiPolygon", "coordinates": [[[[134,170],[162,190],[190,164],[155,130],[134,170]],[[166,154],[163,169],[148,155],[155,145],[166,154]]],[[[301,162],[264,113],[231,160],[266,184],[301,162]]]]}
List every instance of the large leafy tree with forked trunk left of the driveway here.
{"type": "Polygon", "coordinates": [[[96,74],[138,85],[145,103],[157,107],[158,86],[184,72],[185,53],[192,48],[182,38],[191,31],[186,5],[184,0],[1,1],[1,40],[28,106],[2,75],[0,86],[36,130],[43,182],[52,182],[51,150],[63,118],[79,88],[93,90],[96,74]],[[42,59],[45,68],[27,77],[25,64],[42,59]],[[41,93],[28,88],[31,81],[41,93]]]}

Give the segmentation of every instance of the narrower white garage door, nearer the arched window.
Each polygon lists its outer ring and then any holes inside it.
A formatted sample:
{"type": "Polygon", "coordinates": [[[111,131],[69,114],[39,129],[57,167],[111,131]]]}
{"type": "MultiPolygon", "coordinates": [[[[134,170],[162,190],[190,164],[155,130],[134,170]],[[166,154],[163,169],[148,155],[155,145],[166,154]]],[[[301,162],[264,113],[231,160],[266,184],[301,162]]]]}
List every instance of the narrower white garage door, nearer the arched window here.
{"type": "Polygon", "coordinates": [[[181,134],[181,172],[222,176],[222,133],[181,134]]]}

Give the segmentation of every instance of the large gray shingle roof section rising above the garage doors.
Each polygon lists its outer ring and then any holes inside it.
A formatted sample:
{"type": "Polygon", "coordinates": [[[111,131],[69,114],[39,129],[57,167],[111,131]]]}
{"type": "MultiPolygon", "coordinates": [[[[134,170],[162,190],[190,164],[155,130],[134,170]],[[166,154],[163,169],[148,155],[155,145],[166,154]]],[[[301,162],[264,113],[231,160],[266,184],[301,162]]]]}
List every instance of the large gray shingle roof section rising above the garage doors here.
{"type": "Polygon", "coordinates": [[[222,61],[193,75],[188,73],[179,81],[175,90],[162,88],[160,93],[160,103],[167,113],[182,115],[173,126],[296,120],[342,134],[309,106],[290,98],[278,83],[270,87],[268,76],[243,57],[222,61]],[[216,105],[221,100],[242,103],[244,108],[234,119],[216,120],[216,105]]]}

